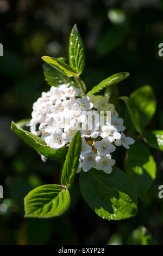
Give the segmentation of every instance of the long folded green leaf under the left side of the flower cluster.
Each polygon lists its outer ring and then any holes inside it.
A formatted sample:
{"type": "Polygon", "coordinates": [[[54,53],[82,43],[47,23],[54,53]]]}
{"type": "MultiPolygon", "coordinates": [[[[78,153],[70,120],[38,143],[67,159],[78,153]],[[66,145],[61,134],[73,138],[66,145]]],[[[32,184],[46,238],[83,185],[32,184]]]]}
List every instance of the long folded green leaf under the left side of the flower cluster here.
{"type": "Polygon", "coordinates": [[[33,147],[34,150],[43,154],[51,160],[58,160],[59,162],[64,162],[67,148],[59,148],[59,150],[52,150],[49,146],[46,145],[45,141],[40,137],[18,128],[17,125],[12,122],[11,129],[15,132],[24,142],[26,142],[30,147],[33,147]]]}

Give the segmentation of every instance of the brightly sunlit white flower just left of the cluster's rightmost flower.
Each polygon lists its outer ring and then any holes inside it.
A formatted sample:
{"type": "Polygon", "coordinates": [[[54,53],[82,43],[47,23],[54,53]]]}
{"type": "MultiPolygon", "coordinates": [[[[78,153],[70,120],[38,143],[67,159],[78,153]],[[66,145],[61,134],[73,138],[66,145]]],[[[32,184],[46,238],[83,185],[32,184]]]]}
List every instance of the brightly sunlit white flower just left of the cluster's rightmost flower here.
{"type": "Polygon", "coordinates": [[[114,126],[110,126],[109,123],[107,126],[102,127],[102,131],[102,138],[107,138],[111,143],[116,139],[121,139],[121,134],[117,132],[117,129],[114,126]]]}

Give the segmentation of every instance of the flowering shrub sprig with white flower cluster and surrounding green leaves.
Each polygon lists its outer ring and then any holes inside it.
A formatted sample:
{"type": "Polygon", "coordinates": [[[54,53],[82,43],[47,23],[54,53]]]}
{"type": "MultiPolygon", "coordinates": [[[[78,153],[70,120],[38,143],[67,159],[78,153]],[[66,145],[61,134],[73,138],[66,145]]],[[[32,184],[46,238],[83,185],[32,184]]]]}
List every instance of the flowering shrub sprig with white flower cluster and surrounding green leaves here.
{"type": "Polygon", "coordinates": [[[48,218],[64,213],[70,206],[68,190],[78,172],[82,195],[98,216],[108,220],[135,216],[137,195],[143,199],[156,172],[154,158],[140,140],[159,150],[163,147],[160,131],[145,128],[156,109],[152,88],[143,86],[130,97],[120,97],[127,106],[124,123],[115,109],[116,84],[129,73],[109,76],[86,94],[80,78],[85,65],[84,46],[76,25],[70,34],[70,65],[64,58],[42,59],[51,89],[42,92],[33,104],[32,119],[12,122],[11,129],[39,152],[43,162],[48,158],[64,166],[61,185],[43,185],[27,195],[26,217],[48,218]],[[94,95],[104,88],[104,96],[94,95]],[[124,133],[126,123],[135,143],[124,133]],[[22,129],[26,126],[30,126],[30,132],[22,129]],[[118,146],[127,149],[126,172],[114,166],[111,154],[118,146]]]}

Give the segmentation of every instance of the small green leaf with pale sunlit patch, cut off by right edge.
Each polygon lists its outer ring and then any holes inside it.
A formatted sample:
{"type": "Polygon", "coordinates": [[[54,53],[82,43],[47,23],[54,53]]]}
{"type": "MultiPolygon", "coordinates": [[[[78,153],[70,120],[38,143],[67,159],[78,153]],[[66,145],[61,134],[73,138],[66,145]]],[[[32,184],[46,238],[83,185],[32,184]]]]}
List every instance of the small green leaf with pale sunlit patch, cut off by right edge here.
{"type": "Polygon", "coordinates": [[[144,140],[156,150],[163,151],[163,130],[153,130],[144,134],[144,140]]]}

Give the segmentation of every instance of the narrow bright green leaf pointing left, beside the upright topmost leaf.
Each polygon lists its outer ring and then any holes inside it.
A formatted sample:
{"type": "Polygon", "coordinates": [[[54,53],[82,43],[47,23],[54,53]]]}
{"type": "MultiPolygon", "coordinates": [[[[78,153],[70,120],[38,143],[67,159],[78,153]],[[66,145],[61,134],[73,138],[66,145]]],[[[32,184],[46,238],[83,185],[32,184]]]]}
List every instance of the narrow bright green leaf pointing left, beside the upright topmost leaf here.
{"type": "Polygon", "coordinates": [[[62,74],[68,76],[69,78],[71,76],[77,76],[77,73],[66,63],[60,61],[57,58],[49,57],[49,56],[43,56],[43,61],[45,61],[48,64],[51,64],[53,68],[56,68],[59,70],[62,74]]]}

